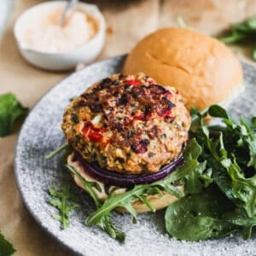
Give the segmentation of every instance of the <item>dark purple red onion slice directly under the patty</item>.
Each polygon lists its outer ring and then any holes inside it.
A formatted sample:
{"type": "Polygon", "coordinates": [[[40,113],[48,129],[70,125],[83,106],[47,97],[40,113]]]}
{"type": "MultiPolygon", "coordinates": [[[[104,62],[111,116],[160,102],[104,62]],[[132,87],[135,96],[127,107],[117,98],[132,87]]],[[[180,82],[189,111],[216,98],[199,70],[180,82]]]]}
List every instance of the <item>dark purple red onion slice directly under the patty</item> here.
{"type": "Polygon", "coordinates": [[[88,163],[85,161],[78,152],[75,152],[75,154],[77,159],[83,164],[85,172],[88,172],[91,177],[94,177],[105,184],[125,188],[132,187],[136,184],[153,183],[154,181],[166,177],[177,166],[183,164],[183,155],[181,153],[178,155],[177,160],[162,167],[159,172],[154,172],[152,174],[121,174],[119,172],[104,170],[96,162],[88,163]]]}

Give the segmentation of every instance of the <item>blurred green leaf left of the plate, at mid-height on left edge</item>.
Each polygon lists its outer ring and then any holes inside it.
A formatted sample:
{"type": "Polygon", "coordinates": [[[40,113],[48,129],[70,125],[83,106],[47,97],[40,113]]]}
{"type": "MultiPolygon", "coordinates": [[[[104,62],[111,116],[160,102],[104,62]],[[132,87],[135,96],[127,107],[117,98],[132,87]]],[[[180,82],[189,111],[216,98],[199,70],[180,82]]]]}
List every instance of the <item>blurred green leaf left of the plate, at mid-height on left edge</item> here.
{"type": "Polygon", "coordinates": [[[15,121],[27,112],[28,108],[24,108],[14,94],[0,95],[0,137],[8,136],[13,131],[15,121]]]}

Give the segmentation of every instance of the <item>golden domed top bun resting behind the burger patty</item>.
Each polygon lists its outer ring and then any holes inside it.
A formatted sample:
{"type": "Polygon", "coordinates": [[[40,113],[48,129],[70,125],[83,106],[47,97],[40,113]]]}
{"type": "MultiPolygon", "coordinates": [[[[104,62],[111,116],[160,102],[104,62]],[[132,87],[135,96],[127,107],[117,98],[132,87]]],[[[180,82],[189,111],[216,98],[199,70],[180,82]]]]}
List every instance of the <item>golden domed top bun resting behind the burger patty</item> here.
{"type": "Polygon", "coordinates": [[[124,74],[138,72],[175,86],[187,108],[229,102],[241,92],[241,64],[230,49],[185,28],[163,28],[143,38],[123,69],[124,74]]]}

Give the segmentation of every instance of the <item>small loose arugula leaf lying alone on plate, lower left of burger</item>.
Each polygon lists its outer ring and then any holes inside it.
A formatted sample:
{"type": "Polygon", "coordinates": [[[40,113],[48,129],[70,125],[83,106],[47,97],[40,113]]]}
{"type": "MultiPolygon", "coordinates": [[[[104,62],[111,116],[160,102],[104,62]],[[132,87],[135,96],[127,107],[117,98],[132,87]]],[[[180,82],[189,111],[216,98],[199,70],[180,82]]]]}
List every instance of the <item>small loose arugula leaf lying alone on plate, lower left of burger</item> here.
{"type": "Polygon", "coordinates": [[[77,199],[70,193],[67,184],[63,185],[61,190],[49,189],[48,192],[52,197],[49,204],[59,210],[59,214],[54,214],[52,217],[61,222],[61,227],[64,230],[69,225],[71,211],[78,206],[77,199]]]}

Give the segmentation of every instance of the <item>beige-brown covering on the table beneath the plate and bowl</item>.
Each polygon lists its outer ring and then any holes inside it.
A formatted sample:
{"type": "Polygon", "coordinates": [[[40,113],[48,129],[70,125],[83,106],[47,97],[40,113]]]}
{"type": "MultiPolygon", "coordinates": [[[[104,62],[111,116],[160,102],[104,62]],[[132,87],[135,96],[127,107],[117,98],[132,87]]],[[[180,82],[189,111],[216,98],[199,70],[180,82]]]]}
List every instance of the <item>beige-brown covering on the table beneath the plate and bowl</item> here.
{"type": "MultiPolygon", "coordinates": [[[[21,58],[16,47],[13,36],[15,19],[21,12],[40,2],[16,0],[9,26],[0,39],[0,94],[14,92],[20,102],[29,108],[68,74],[32,67],[21,58]]],[[[107,42],[100,59],[129,52],[140,38],[160,26],[177,26],[177,15],[182,15],[189,26],[212,34],[229,26],[230,22],[256,14],[256,0],[88,2],[98,4],[108,22],[107,42]]],[[[17,135],[18,129],[13,135],[0,138],[0,230],[13,242],[17,250],[15,255],[69,255],[40,229],[20,200],[14,174],[17,135]]]]}

